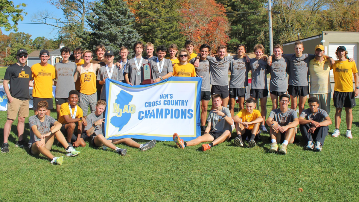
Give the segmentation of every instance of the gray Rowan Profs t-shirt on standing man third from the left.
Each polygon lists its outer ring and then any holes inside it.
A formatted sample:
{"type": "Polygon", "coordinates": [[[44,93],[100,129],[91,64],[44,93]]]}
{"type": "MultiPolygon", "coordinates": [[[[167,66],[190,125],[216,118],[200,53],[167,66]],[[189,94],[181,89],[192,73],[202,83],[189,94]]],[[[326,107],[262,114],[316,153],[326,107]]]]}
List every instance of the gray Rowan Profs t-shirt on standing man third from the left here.
{"type": "Polygon", "coordinates": [[[69,92],[75,89],[74,74],[77,65],[74,62],[55,63],[56,71],[56,90],[55,96],[59,98],[68,98],[69,92]]]}

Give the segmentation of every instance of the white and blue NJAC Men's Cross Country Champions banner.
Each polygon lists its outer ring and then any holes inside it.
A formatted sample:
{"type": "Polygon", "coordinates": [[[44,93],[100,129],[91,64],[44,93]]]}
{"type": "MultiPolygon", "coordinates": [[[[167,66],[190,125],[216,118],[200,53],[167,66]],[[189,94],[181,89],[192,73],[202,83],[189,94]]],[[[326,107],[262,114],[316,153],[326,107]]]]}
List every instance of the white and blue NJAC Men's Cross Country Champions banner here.
{"type": "Polygon", "coordinates": [[[201,85],[199,77],[139,86],[106,79],[106,138],[172,141],[178,133],[189,141],[201,136],[201,85]]]}

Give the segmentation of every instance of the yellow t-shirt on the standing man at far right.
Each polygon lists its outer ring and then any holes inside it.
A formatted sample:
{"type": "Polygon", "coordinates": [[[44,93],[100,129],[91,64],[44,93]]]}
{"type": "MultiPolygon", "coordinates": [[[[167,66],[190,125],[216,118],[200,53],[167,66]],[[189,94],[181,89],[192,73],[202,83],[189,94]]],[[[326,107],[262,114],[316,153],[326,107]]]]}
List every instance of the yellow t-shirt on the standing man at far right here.
{"type": "Polygon", "coordinates": [[[334,91],[353,92],[353,74],[358,72],[355,62],[337,60],[331,69],[334,74],[334,91]]]}

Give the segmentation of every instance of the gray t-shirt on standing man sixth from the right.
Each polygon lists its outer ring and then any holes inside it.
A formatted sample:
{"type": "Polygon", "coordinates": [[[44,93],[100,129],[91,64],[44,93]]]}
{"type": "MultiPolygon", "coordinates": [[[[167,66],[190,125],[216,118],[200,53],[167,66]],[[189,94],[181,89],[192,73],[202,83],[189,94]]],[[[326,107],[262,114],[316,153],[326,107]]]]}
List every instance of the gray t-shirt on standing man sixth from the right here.
{"type": "Polygon", "coordinates": [[[234,57],[229,63],[229,88],[244,88],[248,86],[248,63],[246,58],[234,57]]]}

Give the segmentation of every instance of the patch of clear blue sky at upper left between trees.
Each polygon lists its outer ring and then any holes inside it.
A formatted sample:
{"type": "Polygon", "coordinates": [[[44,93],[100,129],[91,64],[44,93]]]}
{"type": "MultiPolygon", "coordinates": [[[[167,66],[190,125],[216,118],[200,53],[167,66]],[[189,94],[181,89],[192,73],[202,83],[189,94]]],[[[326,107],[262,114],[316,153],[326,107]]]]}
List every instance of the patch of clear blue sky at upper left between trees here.
{"type": "MultiPolygon", "coordinates": [[[[24,8],[25,12],[27,12],[27,15],[24,16],[23,21],[19,21],[18,25],[18,32],[25,32],[28,33],[31,36],[32,39],[35,39],[36,37],[42,37],[45,38],[52,38],[56,35],[57,31],[52,31],[53,27],[46,25],[46,24],[20,24],[20,23],[33,23],[31,22],[32,17],[37,12],[42,12],[43,10],[48,10],[49,12],[52,12],[56,16],[62,16],[62,10],[57,9],[55,6],[48,3],[48,0],[12,0],[14,2],[14,5],[18,5],[20,3],[25,3],[27,6],[24,8]]],[[[51,21],[52,22],[52,21],[51,21]]],[[[12,23],[12,22],[11,22],[12,23]]],[[[4,30],[4,28],[1,28],[1,31],[3,34],[8,35],[10,31],[7,32],[4,30]]]]}

